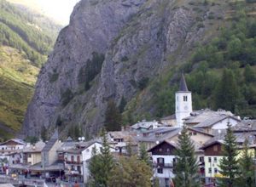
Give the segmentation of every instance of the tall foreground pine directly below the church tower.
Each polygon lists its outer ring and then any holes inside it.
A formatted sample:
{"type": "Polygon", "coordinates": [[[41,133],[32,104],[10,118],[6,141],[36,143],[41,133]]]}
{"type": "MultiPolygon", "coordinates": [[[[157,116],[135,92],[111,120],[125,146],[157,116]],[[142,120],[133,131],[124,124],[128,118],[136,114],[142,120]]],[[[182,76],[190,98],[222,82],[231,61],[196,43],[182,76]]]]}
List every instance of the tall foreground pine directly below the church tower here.
{"type": "Polygon", "coordinates": [[[176,164],[174,170],[175,186],[197,187],[200,186],[199,168],[195,157],[195,146],[189,139],[187,127],[183,127],[178,136],[176,151],[176,164]]]}

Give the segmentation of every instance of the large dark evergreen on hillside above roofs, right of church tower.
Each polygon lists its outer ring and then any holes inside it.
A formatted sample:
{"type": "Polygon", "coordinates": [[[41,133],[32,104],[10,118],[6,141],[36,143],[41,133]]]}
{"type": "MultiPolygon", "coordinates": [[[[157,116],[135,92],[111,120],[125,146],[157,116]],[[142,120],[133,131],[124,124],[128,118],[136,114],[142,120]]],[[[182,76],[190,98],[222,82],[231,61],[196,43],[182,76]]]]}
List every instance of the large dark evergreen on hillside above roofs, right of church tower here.
{"type": "Polygon", "coordinates": [[[215,90],[215,107],[234,112],[238,96],[239,90],[233,72],[224,69],[215,90]]]}

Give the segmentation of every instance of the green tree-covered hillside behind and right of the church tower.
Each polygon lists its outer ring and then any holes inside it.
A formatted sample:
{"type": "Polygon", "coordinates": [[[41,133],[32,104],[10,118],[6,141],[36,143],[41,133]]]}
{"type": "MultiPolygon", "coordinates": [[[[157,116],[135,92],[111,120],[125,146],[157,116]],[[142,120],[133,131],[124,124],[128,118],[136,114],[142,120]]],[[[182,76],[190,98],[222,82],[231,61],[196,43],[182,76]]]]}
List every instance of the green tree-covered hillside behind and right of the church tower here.
{"type": "Polygon", "coordinates": [[[190,1],[190,8],[207,12],[197,19],[197,26],[207,29],[206,35],[182,61],[172,56],[169,60],[180,64],[170,66],[126,105],[124,123],[173,114],[182,72],[193,94],[193,110],[221,108],[255,118],[256,3],[247,2],[190,1]],[[225,14],[218,14],[214,7],[224,8],[225,14]],[[131,117],[132,111],[137,116],[131,117]]]}

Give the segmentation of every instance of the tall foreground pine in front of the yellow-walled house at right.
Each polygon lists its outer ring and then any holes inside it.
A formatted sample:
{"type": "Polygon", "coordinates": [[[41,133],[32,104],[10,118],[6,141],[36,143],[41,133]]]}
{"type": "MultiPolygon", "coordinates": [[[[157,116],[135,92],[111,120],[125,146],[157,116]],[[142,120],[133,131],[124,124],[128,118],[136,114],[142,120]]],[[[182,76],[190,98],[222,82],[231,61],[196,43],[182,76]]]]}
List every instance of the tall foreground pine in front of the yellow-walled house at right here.
{"type": "Polygon", "coordinates": [[[237,184],[239,166],[237,161],[238,151],[236,137],[228,124],[227,133],[224,137],[223,158],[219,162],[220,171],[224,178],[219,178],[218,184],[223,187],[234,187],[237,184]]]}

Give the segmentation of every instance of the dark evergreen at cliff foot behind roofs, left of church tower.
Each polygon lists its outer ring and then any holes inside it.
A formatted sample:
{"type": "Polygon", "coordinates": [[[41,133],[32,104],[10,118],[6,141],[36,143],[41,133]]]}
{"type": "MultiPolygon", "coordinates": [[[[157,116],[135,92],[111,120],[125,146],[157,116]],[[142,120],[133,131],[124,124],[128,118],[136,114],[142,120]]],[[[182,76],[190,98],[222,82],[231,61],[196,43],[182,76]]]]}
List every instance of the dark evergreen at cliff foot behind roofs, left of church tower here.
{"type": "Polygon", "coordinates": [[[119,109],[116,107],[113,99],[108,101],[107,110],[105,113],[105,127],[107,131],[121,130],[122,116],[119,109]]]}

